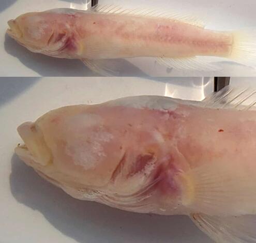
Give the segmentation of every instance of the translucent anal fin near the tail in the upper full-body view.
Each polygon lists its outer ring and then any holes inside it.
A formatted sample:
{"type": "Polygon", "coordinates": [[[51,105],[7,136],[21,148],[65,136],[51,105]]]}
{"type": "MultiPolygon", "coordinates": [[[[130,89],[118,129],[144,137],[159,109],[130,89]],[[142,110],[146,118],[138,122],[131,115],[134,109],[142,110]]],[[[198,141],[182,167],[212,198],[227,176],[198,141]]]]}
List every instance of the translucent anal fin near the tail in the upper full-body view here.
{"type": "Polygon", "coordinates": [[[203,56],[194,56],[186,58],[157,58],[157,62],[169,68],[199,70],[199,71],[216,71],[215,65],[208,63],[203,56]]]}

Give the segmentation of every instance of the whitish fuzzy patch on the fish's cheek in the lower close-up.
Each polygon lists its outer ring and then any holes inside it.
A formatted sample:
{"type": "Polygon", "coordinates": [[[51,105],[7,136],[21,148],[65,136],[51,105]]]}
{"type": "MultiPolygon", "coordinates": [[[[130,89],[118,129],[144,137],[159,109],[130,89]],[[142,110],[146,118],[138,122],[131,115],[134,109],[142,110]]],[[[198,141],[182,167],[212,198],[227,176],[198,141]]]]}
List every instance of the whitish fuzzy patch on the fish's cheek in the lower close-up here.
{"type": "Polygon", "coordinates": [[[66,154],[76,165],[93,169],[107,155],[104,146],[113,135],[102,126],[102,118],[95,114],[80,114],[67,120],[66,154]]]}

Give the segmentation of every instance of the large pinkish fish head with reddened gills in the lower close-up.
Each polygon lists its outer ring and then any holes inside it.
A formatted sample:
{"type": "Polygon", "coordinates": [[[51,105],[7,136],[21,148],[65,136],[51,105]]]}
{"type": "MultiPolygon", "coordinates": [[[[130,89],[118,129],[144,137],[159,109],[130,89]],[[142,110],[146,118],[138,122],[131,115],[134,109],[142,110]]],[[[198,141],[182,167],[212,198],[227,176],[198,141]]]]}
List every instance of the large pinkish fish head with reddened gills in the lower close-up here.
{"type": "Polygon", "coordinates": [[[165,113],[127,102],[73,105],[24,123],[18,127],[24,145],[16,153],[74,198],[88,200],[92,191],[100,192],[105,201],[98,202],[131,209],[160,193],[168,195],[172,207],[170,200],[176,203],[179,193],[173,179],[177,170],[170,169],[169,145],[154,128],[165,113]],[[121,202],[123,195],[129,200],[121,202]]]}

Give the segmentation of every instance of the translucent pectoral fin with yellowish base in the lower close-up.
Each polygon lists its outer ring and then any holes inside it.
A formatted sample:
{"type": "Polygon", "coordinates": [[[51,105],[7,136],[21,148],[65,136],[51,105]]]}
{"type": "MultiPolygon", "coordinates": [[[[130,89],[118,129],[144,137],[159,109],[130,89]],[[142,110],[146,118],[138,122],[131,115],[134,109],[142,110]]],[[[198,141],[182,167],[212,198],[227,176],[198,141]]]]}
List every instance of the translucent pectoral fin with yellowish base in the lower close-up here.
{"type": "Polygon", "coordinates": [[[179,175],[182,203],[207,215],[256,214],[255,177],[253,163],[207,163],[179,175]]]}

